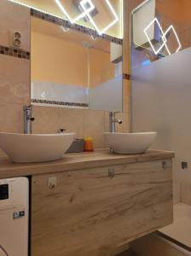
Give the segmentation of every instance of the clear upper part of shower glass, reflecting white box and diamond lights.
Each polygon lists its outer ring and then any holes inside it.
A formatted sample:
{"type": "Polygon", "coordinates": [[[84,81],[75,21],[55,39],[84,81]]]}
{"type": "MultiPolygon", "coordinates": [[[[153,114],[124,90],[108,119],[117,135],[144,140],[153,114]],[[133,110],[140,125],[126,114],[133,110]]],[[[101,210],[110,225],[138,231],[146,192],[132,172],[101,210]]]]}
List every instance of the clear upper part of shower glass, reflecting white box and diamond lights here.
{"type": "Polygon", "coordinates": [[[190,0],[147,0],[132,11],[131,67],[190,47],[190,0]]]}

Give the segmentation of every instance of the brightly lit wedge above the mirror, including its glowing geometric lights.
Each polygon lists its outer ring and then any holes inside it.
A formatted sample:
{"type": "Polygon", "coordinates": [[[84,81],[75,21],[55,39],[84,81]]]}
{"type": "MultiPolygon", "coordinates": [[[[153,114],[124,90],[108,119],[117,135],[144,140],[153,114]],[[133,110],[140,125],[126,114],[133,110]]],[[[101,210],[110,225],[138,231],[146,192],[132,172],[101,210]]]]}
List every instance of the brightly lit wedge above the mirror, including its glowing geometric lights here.
{"type": "Polygon", "coordinates": [[[80,26],[82,25],[82,23],[79,22],[80,19],[84,19],[84,20],[89,19],[89,22],[87,22],[86,24],[83,23],[82,26],[88,27],[88,28],[92,28],[93,26],[93,29],[95,29],[99,35],[107,32],[109,28],[111,28],[114,24],[116,24],[119,21],[119,26],[114,27],[112,31],[108,31],[107,33],[108,35],[115,38],[123,38],[123,25],[122,25],[123,21],[122,20],[123,20],[123,6],[124,6],[123,1],[124,0],[115,0],[116,3],[113,3],[113,4],[111,3],[111,0],[41,0],[41,1],[8,0],[8,1],[12,3],[20,4],[29,9],[37,10],[47,15],[52,15],[59,19],[69,20],[71,23],[78,23],[78,25],[80,26]],[[104,6],[101,7],[100,3],[103,4],[104,6]],[[73,4],[73,9],[71,14],[70,11],[68,10],[68,7],[72,6],[72,4],[73,4]],[[117,4],[118,4],[118,7],[117,7],[118,11],[115,11],[115,9],[113,8],[113,5],[117,6],[117,4]],[[60,10],[60,12],[58,11],[58,9],[60,10]],[[106,9],[107,9],[107,13],[105,12],[106,9]],[[75,14],[73,11],[75,11],[75,14]],[[96,16],[98,13],[103,14],[101,16],[103,17],[104,25],[103,23],[101,24],[101,19],[98,19],[99,24],[96,21],[96,19],[99,18],[98,16],[96,16]],[[104,19],[104,17],[106,17],[107,14],[108,14],[108,19],[104,19]],[[109,20],[109,21],[106,21],[106,20],[109,20]]]}

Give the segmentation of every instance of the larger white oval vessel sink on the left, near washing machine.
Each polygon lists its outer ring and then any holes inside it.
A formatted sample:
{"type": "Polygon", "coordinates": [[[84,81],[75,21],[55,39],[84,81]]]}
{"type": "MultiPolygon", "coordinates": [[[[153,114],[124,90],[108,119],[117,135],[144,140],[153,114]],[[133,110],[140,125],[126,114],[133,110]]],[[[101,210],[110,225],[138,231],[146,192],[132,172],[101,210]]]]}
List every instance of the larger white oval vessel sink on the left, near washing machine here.
{"type": "Polygon", "coordinates": [[[14,162],[44,162],[61,159],[75,133],[19,134],[0,132],[0,148],[14,162]]]}

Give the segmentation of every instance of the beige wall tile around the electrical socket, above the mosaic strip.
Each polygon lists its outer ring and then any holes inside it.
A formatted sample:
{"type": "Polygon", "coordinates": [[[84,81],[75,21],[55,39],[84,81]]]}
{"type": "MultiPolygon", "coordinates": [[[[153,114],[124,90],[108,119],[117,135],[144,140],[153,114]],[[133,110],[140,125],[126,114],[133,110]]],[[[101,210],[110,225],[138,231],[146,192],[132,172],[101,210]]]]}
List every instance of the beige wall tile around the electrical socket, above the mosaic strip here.
{"type": "Polygon", "coordinates": [[[11,3],[0,1],[0,45],[10,45],[10,32],[21,33],[21,48],[30,51],[30,9],[11,3]]]}

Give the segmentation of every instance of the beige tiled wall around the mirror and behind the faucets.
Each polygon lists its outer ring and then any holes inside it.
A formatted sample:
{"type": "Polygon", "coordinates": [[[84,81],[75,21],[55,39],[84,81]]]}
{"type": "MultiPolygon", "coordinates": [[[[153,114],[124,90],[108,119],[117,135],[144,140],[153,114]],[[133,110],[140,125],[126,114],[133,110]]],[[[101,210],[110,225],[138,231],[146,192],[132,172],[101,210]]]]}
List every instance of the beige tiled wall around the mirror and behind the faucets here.
{"type": "MultiPolygon", "coordinates": [[[[22,49],[30,50],[30,10],[7,0],[0,1],[0,45],[9,47],[9,31],[22,34],[22,49]]],[[[22,107],[30,104],[30,60],[0,53],[0,131],[22,132],[22,107]]],[[[124,88],[125,102],[127,94],[124,88]]],[[[124,111],[125,115],[127,110],[124,111]]],[[[108,113],[83,109],[33,107],[34,133],[53,133],[60,128],[75,131],[77,137],[94,137],[95,146],[105,145],[102,131],[108,131],[108,113]]],[[[123,119],[123,113],[119,113],[123,119]]],[[[117,125],[127,131],[129,124],[117,125]]]]}

